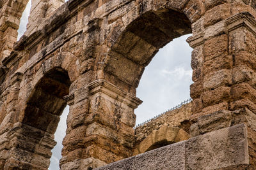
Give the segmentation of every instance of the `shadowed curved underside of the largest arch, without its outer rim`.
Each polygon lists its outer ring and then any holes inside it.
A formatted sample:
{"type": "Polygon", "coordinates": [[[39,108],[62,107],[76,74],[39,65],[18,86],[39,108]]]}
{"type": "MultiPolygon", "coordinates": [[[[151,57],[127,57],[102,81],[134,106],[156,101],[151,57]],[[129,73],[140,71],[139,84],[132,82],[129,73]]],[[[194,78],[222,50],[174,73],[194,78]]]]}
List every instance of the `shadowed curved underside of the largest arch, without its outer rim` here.
{"type": "Polygon", "coordinates": [[[163,9],[148,11],[127,25],[113,43],[106,72],[138,87],[141,75],[159,48],[191,33],[191,22],[184,13],[163,9]]]}

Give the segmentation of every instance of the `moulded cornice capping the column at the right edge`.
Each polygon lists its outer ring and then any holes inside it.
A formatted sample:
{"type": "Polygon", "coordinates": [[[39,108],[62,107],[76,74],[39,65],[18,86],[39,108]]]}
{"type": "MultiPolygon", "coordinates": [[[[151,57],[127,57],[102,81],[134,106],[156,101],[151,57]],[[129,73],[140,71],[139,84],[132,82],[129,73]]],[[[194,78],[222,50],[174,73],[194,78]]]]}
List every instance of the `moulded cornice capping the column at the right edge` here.
{"type": "Polygon", "coordinates": [[[227,31],[233,31],[239,27],[247,27],[256,36],[256,20],[252,14],[248,12],[239,13],[226,20],[227,31]]]}

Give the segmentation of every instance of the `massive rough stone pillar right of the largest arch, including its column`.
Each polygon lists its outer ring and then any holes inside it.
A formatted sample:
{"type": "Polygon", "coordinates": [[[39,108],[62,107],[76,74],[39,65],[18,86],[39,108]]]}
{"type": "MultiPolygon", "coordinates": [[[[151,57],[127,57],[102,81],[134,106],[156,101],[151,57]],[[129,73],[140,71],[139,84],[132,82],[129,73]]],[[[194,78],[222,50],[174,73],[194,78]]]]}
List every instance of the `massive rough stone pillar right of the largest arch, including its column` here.
{"type": "Polygon", "coordinates": [[[236,5],[223,3],[212,8],[206,3],[204,17],[193,24],[193,31],[200,33],[188,39],[194,48],[191,137],[246,124],[249,168],[255,169],[256,21],[251,13],[240,12],[253,10],[250,6],[236,5]]]}

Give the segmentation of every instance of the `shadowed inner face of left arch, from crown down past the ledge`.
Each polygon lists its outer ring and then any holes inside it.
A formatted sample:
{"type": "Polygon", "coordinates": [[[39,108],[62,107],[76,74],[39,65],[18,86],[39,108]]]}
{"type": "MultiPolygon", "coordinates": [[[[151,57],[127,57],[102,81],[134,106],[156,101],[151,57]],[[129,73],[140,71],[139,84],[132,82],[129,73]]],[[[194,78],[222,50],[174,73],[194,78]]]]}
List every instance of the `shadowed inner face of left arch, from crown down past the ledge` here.
{"type": "Polygon", "coordinates": [[[60,121],[60,115],[67,106],[63,97],[68,95],[70,84],[67,71],[54,67],[38,81],[29,97],[22,121],[22,134],[26,134],[24,142],[29,145],[27,144],[22,150],[33,153],[31,164],[45,169],[49,167],[51,150],[56,145],[54,132],[60,121]]]}

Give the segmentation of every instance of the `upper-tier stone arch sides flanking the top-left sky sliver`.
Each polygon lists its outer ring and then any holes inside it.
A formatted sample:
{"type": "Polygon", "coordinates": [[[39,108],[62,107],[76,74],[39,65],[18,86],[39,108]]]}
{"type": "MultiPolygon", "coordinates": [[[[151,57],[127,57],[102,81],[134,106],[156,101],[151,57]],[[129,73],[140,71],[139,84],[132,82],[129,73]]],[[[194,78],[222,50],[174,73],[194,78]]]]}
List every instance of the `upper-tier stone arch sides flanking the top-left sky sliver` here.
{"type": "MultiPolygon", "coordinates": [[[[5,40],[0,43],[2,51],[0,53],[1,61],[12,52],[13,45],[17,41],[20,18],[28,2],[29,0],[3,0],[0,2],[0,15],[2,16],[0,20],[0,36],[1,39],[5,40]]],[[[26,36],[38,31],[38,26],[45,21],[45,18],[50,17],[64,2],[65,0],[32,1],[31,16],[29,17],[26,36]]]]}

